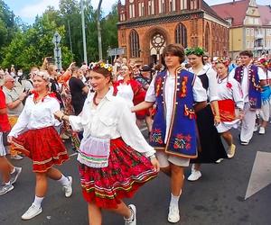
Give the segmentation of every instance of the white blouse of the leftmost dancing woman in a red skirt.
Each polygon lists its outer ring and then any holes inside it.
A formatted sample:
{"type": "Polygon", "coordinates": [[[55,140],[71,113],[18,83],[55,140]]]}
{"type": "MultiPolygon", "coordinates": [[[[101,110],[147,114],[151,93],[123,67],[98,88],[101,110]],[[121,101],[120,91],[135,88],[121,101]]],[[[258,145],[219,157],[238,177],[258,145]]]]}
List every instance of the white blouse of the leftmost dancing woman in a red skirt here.
{"type": "Polygon", "coordinates": [[[28,96],[23,112],[8,136],[17,137],[24,130],[35,130],[50,126],[60,126],[53,113],[60,110],[60,103],[56,98],[45,96],[39,103],[33,102],[33,94],[28,96]]]}

